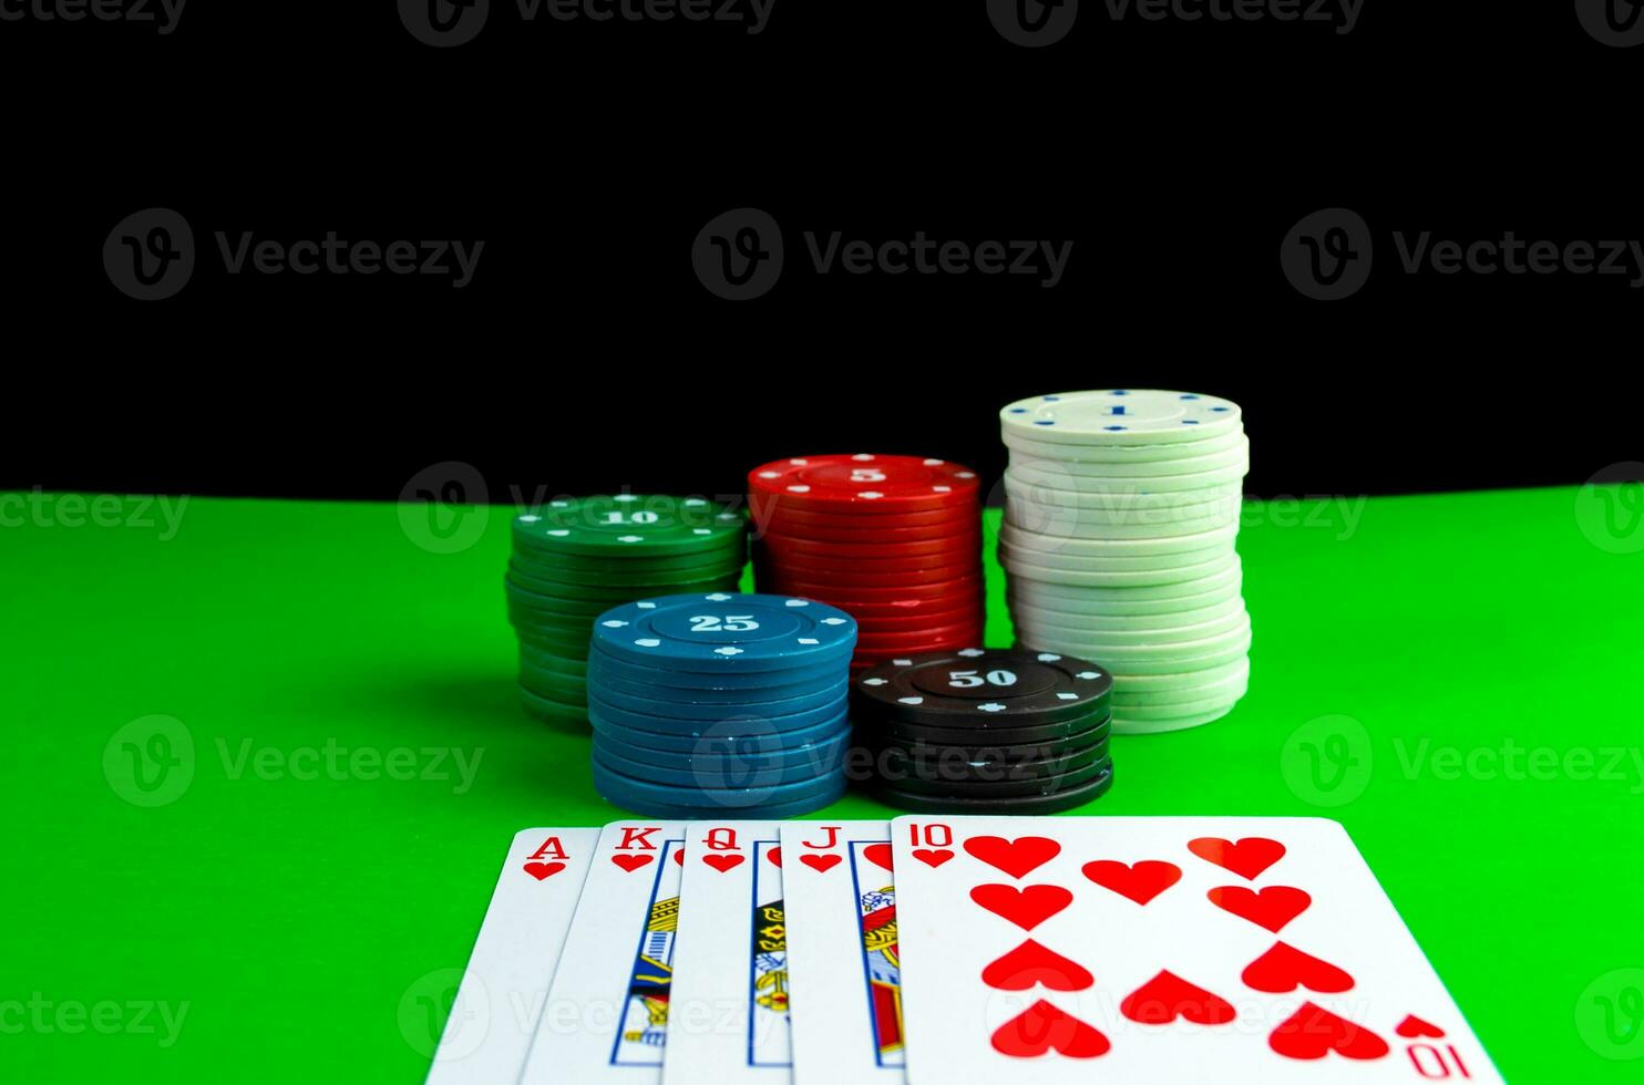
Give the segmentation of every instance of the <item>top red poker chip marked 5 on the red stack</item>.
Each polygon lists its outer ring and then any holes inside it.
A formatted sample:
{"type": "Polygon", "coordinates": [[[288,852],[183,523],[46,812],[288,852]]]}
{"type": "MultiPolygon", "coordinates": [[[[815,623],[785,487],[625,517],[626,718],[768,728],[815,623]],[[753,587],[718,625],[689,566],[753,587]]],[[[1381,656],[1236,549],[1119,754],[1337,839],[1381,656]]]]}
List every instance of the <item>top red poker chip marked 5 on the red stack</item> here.
{"type": "Polygon", "coordinates": [[[975,505],[980,492],[981,480],[968,467],[917,455],[807,455],[748,472],[750,505],[755,495],[766,495],[794,510],[947,510],[975,505]]]}

